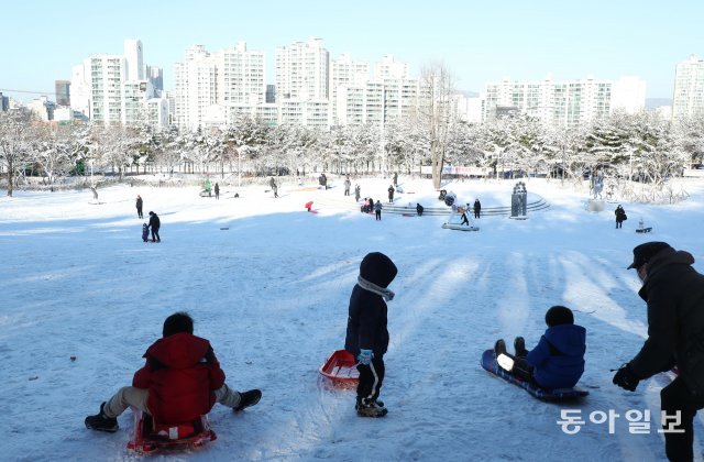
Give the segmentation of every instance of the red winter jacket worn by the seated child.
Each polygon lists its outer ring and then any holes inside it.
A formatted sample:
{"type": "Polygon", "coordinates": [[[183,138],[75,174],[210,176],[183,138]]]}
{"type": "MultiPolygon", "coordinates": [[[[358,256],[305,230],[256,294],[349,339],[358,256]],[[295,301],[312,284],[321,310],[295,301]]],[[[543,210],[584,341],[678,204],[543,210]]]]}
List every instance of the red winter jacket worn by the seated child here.
{"type": "Polygon", "coordinates": [[[224,372],[208,340],[176,333],[154,342],[143,358],[132,386],[148,388],[146,406],[156,421],[187,422],[210,411],[224,372]]]}

